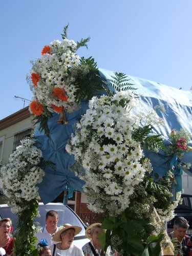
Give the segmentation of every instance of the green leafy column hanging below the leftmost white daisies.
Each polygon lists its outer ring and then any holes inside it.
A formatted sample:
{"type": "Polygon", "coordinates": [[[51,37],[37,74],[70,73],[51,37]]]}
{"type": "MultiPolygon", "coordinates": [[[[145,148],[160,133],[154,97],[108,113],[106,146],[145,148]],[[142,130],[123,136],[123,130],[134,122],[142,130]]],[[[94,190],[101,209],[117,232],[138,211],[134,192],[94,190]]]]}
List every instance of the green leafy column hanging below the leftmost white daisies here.
{"type": "Polygon", "coordinates": [[[34,227],[33,218],[37,216],[38,201],[36,199],[25,201],[23,200],[23,208],[18,214],[17,230],[15,232],[15,248],[14,253],[17,256],[34,255],[38,256],[35,249],[36,229],[34,227]]]}

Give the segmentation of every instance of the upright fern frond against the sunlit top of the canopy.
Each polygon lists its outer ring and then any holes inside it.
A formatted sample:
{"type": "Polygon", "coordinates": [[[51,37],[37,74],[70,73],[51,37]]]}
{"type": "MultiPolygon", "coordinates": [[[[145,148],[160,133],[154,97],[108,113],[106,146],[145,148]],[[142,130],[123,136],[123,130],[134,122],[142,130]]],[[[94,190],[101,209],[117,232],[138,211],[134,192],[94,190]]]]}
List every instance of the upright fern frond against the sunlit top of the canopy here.
{"type": "Polygon", "coordinates": [[[127,75],[119,72],[115,72],[115,76],[111,76],[113,79],[109,79],[112,87],[117,91],[126,91],[126,90],[137,90],[133,87],[133,83],[130,83],[130,79],[127,78],[127,75]]]}

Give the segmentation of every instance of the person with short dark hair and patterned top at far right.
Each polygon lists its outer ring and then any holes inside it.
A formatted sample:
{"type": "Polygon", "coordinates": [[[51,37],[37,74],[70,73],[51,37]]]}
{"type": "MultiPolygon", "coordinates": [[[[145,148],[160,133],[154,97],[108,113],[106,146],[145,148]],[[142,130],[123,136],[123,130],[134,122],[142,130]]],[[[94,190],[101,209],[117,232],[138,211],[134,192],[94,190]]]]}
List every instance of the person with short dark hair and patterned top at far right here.
{"type": "Polygon", "coordinates": [[[183,255],[189,255],[188,252],[191,248],[190,237],[186,235],[189,228],[187,220],[183,217],[178,217],[174,221],[174,231],[168,233],[169,238],[172,240],[175,250],[182,251],[183,255]]]}

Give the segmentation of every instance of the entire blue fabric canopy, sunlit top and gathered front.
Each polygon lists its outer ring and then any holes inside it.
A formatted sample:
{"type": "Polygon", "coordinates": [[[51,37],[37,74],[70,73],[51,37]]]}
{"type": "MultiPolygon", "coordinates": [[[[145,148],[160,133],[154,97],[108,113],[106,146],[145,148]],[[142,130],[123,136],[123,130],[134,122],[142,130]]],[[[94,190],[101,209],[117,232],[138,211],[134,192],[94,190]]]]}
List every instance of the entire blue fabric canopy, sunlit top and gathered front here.
{"type": "MultiPolygon", "coordinates": [[[[99,69],[100,74],[106,79],[111,79],[114,72],[99,69]]],[[[141,79],[133,76],[127,76],[130,82],[134,84],[136,91],[141,97],[139,99],[138,109],[146,110],[154,108],[156,105],[163,105],[165,112],[158,113],[164,120],[164,126],[155,127],[155,134],[162,134],[165,143],[169,143],[168,135],[173,129],[185,129],[192,133],[192,94],[189,91],[182,91],[176,88],[168,87],[157,82],[141,79]]],[[[39,125],[35,130],[35,138],[40,142],[44,159],[56,163],[56,172],[50,167],[45,168],[45,177],[39,184],[39,195],[45,204],[53,201],[66,185],[69,188],[82,191],[83,181],[70,171],[70,166],[74,163],[74,157],[69,155],[66,150],[66,144],[74,132],[75,123],[86,113],[88,104],[81,102],[81,109],[72,114],[67,113],[69,123],[67,125],[57,124],[59,115],[54,114],[49,118],[48,126],[51,139],[47,138],[44,132],[39,131],[39,125]]],[[[155,171],[162,177],[168,168],[168,159],[165,153],[160,152],[158,156],[154,153],[146,153],[152,160],[155,171]]],[[[192,163],[191,152],[185,154],[183,161],[192,163]]],[[[192,175],[192,168],[188,170],[192,175]]]]}

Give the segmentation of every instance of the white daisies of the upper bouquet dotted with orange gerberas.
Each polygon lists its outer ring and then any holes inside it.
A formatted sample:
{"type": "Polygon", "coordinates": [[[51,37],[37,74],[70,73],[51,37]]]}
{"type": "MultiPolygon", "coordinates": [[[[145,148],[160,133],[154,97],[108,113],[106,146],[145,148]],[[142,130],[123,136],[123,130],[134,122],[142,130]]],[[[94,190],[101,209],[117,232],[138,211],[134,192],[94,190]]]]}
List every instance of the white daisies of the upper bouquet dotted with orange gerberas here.
{"type": "Polygon", "coordinates": [[[34,100],[54,112],[53,105],[63,107],[69,113],[79,108],[75,102],[76,87],[74,78],[69,70],[79,65],[79,56],[76,54],[77,44],[74,40],[54,40],[50,44],[50,53],[44,53],[37,58],[31,70],[40,76],[37,86],[33,87],[34,100]],[[67,100],[54,95],[53,89],[65,90],[67,100]]]}

